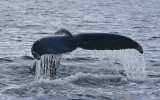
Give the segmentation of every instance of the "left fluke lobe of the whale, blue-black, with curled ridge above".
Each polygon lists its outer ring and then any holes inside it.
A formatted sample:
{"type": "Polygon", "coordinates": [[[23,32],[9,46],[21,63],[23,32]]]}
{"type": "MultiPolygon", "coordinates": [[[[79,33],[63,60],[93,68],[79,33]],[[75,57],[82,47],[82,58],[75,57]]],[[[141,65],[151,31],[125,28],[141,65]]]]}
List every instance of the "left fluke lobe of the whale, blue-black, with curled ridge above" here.
{"type": "Polygon", "coordinates": [[[56,33],[61,32],[66,35],[45,37],[35,41],[31,49],[32,55],[39,60],[44,54],[63,54],[75,50],[77,43],[72,34],[64,29],[56,33]]]}

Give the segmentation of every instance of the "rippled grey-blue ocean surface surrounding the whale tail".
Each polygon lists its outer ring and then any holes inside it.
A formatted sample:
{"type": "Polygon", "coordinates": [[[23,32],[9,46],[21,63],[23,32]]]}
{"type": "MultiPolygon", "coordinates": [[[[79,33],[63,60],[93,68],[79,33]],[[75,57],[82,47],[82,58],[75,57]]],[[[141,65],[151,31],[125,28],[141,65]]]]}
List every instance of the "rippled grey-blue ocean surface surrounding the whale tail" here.
{"type": "Polygon", "coordinates": [[[159,43],[160,0],[0,0],[0,100],[160,100],[159,43]],[[77,49],[37,79],[31,46],[61,28],[127,36],[144,54],[77,49]]]}

